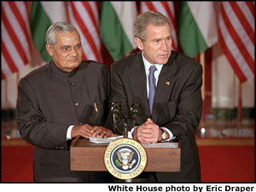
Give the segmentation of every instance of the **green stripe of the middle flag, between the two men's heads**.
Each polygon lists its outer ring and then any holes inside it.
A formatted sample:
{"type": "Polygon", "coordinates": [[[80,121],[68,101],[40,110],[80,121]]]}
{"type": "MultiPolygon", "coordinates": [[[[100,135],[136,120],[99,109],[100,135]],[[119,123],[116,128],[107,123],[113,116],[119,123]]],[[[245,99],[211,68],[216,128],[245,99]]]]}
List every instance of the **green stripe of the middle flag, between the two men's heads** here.
{"type": "Polygon", "coordinates": [[[133,50],[110,2],[102,3],[100,36],[114,60],[121,58],[133,50]]]}

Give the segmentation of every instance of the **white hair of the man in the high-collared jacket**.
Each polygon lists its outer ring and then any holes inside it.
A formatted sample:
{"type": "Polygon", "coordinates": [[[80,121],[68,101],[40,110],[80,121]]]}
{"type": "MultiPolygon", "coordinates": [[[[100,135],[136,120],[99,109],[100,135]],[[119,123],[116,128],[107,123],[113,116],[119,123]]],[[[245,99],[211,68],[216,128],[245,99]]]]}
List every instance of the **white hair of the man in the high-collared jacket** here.
{"type": "MultiPolygon", "coordinates": [[[[78,31],[73,25],[71,25],[65,21],[55,22],[53,25],[49,26],[49,29],[46,32],[45,42],[48,42],[54,48],[55,43],[56,43],[56,38],[55,38],[56,32],[69,33],[74,30],[78,31]]],[[[79,37],[80,37],[80,35],[79,35],[79,37]]]]}

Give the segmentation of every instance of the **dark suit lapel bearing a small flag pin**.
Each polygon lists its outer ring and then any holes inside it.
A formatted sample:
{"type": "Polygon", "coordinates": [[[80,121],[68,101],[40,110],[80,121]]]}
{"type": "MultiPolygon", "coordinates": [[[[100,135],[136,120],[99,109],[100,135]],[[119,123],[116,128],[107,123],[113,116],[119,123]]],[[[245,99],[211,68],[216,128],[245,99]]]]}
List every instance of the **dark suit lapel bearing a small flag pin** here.
{"type": "MultiPolygon", "coordinates": [[[[154,94],[154,104],[152,110],[152,120],[157,121],[163,111],[157,110],[157,104],[167,102],[172,94],[172,88],[175,81],[177,64],[174,59],[175,53],[172,52],[169,61],[163,66],[157,83],[157,88],[154,94]]],[[[162,109],[162,108],[161,108],[162,109]]]]}

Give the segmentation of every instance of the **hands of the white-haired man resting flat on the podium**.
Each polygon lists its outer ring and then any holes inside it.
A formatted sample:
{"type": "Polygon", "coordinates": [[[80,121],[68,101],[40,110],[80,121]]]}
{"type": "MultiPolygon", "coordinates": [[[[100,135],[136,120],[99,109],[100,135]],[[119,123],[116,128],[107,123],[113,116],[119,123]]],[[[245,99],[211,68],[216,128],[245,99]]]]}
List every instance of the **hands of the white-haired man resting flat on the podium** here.
{"type": "Polygon", "coordinates": [[[83,124],[74,126],[71,131],[71,137],[82,136],[83,138],[97,137],[97,138],[108,138],[113,135],[113,132],[106,127],[101,126],[90,126],[89,124],[83,124]]]}

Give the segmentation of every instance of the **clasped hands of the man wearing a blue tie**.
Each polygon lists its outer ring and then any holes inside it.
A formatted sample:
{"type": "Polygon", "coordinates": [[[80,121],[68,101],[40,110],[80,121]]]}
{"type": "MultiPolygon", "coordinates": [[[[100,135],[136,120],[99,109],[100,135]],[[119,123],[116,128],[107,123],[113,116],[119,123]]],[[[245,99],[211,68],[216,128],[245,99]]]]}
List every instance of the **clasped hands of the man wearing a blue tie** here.
{"type": "Polygon", "coordinates": [[[161,130],[148,118],[143,125],[137,127],[133,135],[141,144],[155,144],[160,140],[161,130]]]}

